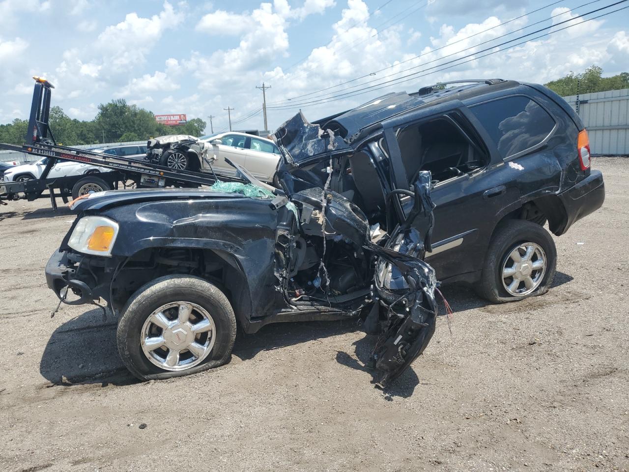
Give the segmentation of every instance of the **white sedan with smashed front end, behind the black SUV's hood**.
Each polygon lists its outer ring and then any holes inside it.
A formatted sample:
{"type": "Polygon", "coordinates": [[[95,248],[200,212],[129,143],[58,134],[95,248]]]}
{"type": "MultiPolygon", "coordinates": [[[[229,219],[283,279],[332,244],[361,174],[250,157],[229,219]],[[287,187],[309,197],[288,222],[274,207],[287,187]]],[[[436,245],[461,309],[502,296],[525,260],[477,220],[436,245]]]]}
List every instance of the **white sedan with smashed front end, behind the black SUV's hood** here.
{"type": "Polygon", "coordinates": [[[247,133],[226,132],[195,138],[170,135],[148,142],[147,157],[153,162],[173,169],[209,170],[207,158],[213,158],[212,170],[217,174],[234,176],[235,170],[226,158],[245,167],[253,176],[272,182],[280,158],[276,143],[247,133]],[[176,149],[175,149],[176,148],[176,149]]]}

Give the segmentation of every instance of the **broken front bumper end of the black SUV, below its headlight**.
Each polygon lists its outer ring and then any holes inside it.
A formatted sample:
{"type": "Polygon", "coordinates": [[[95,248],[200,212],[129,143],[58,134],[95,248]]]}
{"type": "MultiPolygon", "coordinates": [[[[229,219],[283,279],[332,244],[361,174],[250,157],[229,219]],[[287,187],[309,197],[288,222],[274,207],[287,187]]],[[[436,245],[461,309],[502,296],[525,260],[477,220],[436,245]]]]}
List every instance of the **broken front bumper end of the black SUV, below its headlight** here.
{"type": "MultiPolygon", "coordinates": [[[[74,255],[73,256],[77,256],[74,255]]],[[[109,300],[107,281],[94,280],[90,271],[82,271],[82,264],[90,264],[87,256],[69,257],[67,251],[56,250],[46,264],[46,283],[60,300],[67,305],[84,305],[103,297],[109,300]],[[75,262],[72,259],[79,259],[75,262]],[[84,274],[82,274],[85,272],[84,274]],[[71,290],[78,300],[69,300],[67,290],[71,290]]]]}

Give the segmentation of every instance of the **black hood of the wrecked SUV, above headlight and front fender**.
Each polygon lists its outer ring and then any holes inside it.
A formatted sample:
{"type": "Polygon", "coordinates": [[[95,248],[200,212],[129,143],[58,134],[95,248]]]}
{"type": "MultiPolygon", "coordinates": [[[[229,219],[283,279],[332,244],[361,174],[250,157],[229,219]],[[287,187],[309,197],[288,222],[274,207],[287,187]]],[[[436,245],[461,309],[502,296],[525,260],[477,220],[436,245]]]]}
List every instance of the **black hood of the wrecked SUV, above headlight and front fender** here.
{"type": "Polygon", "coordinates": [[[213,198],[245,198],[239,193],[216,192],[209,189],[134,189],[108,190],[92,193],[75,201],[70,209],[75,213],[86,210],[103,210],[113,206],[141,203],[143,201],[166,201],[185,199],[213,199],[213,198]]]}

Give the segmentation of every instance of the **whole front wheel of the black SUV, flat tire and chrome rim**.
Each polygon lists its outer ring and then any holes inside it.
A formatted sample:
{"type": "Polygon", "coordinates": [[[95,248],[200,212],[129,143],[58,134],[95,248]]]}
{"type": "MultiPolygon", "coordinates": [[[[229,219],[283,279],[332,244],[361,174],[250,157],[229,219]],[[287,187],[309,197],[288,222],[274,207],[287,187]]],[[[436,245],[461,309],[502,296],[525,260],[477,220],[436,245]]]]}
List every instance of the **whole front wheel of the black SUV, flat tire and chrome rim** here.
{"type": "Polygon", "coordinates": [[[139,288],[121,313],[118,352],[140,380],[195,374],[231,359],[236,318],[225,294],[204,279],[155,279],[139,288]]]}

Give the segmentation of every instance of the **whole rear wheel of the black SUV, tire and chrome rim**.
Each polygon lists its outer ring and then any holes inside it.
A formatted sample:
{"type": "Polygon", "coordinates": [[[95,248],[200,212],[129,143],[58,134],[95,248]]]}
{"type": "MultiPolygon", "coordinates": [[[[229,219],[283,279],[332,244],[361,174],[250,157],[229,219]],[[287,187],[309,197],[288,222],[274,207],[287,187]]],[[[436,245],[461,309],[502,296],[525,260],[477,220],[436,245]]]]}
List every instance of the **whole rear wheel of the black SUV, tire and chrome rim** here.
{"type": "Polygon", "coordinates": [[[476,293],[492,303],[543,295],[557,269],[557,248],[540,225],[523,220],[502,223],[489,244],[476,293]]]}

